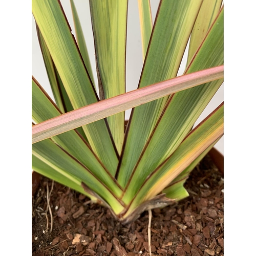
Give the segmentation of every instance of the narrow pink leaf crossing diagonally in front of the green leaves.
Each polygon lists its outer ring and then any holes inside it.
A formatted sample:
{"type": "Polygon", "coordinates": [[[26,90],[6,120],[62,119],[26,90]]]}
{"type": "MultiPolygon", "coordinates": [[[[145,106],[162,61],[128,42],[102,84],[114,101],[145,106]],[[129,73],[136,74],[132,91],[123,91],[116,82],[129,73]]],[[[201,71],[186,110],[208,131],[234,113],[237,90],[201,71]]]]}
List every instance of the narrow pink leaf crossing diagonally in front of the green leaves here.
{"type": "Polygon", "coordinates": [[[70,111],[32,126],[32,143],[68,132],[79,126],[103,119],[166,95],[223,78],[224,67],[219,66],[182,75],[141,89],[105,99],[70,111]]]}

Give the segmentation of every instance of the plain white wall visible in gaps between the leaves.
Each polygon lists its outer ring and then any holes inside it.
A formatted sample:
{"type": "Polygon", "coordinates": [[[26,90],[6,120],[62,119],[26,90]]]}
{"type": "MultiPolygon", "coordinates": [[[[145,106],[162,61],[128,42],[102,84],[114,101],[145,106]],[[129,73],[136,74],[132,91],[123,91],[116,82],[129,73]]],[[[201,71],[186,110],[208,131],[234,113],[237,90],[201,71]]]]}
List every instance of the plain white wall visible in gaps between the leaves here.
{"type": "MultiPolygon", "coordinates": [[[[61,0],[62,7],[67,15],[70,26],[74,33],[74,24],[72,18],[72,12],[69,0],[61,0]]],[[[153,19],[155,18],[159,0],[151,0],[151,9],[153,19]]],[[[89,1],[75,0],[76,9],[80,18],[80,22],[83,28],[84,36],[86,37],[86,43],[93,69],[94,79],[97,80],[96,68],[95,68],[95,55],[94,55],[94,42],[91,26],[89,1]]],[[[127,49],[126,49],[126,91],[132,91],[137,89],[140,73],[142,70],[142,53],[141,53],[141,37],[140,37],[140,25],[139,25],[139,13],[137,0],[130,0],[128,7],[128,22],[127,22],[127,49]]],[[[186,59],[183,59],[178,75],[183,73],[185,69],[186,59]]],[[[35,22],[32,16],[32,75],[38,80],[38,82],[45,88],[47,93],[53,98],[51,92],[50,83],[47,77],[44,61],[41,56],[36,30],[35,22]]],[[[199,117],[196,124],[198,124],[203,118],[205,118],[211,111],[223,101],[223,85],[216,93],[214,98],[209,102],[204,112],[199,117]]],[[[125,114],[126,119],[129,118],[131,111],[127,111],[125,114]]],[[[215,146],[223,154],[223,138],[215,146]]]]}

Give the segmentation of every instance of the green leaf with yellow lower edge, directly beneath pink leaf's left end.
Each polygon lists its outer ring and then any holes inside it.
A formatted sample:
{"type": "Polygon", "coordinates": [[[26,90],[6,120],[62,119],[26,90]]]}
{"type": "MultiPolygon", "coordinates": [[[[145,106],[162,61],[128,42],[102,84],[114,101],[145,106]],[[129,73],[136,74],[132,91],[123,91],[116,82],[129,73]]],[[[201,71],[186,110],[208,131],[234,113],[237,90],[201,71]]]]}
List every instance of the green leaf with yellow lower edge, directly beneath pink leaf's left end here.
{"type": "MultiPolygon", "coordinates": [[[[90,189],[102,197],[118,214],[123,206],[114,194],[101,183],[90,170],[63,151],[52,140],[47,139],[32,145],[32,154],[60,174],[70,178],[70,174],[85,183],[90,189]]],[[[70,178],[71,179],[71,178],[70,178]]],[[[74,181],[74,180],[73,180],[74,181]]]]}

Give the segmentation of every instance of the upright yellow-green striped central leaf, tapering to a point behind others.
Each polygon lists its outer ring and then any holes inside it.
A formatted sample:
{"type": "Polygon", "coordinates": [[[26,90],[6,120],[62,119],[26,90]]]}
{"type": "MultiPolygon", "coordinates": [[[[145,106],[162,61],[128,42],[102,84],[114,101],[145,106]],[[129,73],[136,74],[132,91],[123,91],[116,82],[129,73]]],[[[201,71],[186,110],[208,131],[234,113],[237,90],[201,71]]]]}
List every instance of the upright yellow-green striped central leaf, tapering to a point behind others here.
{"type": "MultiPolygon", "coordinates": [[[[100,99],[125,93],[127,0],[90,1],[100,99]]],[[[120,154],[124,112],[107,118],[120,154]]]]}

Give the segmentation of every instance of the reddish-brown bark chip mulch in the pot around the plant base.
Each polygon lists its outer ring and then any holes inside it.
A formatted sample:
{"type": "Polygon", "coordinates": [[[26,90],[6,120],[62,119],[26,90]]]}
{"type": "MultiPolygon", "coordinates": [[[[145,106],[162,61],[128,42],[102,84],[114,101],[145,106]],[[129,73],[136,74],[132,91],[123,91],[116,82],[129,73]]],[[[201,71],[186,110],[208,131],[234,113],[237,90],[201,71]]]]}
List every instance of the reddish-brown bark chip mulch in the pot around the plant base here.
{"type": "MultiPolygon", "coordinates": [[[[122,225],[104,207],[54,182],[47,211],[47,186],[42,178],[32,198],[32,256],[148,256],[148,212],[122,225]]],[[[206,156],[185,184],[190,196],[175,207],[152,210],[152,255],[224,255],[223,178],[206,156]]]]}

